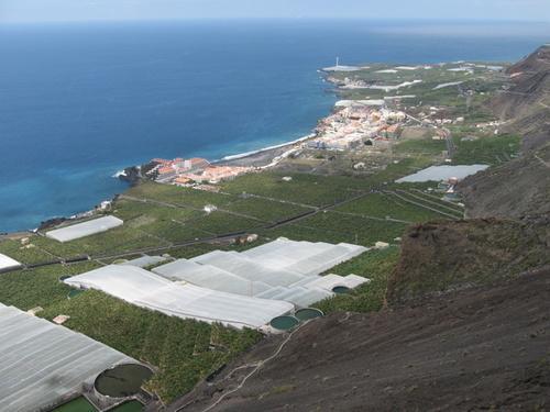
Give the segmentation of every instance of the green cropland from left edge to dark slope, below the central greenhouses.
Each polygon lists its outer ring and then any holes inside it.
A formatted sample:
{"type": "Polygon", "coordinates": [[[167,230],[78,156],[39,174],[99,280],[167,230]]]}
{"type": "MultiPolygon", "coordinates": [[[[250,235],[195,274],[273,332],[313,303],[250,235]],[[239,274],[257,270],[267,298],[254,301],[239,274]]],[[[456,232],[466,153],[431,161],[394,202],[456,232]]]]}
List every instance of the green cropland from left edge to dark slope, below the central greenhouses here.
{"type": "Polygon", "coordinates": [[[72,289],[59,279],[97,267],[87,261],[3,274],[0,302],[22,310],[41,307],[44,311],[38,315],[48,320],[69,315],[64,326],[152,365],[158,371],[147,388],[166,402],[261,338],[251,330],[166,316],[98,291],[69,299],[72,289]]]}

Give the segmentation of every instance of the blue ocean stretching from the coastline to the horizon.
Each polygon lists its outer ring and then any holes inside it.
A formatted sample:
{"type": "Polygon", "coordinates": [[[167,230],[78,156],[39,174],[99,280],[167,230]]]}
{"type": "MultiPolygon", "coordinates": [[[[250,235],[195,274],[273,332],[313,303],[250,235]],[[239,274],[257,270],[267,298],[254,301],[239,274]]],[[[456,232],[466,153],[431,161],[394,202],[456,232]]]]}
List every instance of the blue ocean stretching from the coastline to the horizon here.
{"type": "Polygon", "coordinates": [[[308,134],[334,63],[516,60],[544,24],[187,21],[0,24],[0,232],[89,210],[152,157],[210,159],[308,134]]]}

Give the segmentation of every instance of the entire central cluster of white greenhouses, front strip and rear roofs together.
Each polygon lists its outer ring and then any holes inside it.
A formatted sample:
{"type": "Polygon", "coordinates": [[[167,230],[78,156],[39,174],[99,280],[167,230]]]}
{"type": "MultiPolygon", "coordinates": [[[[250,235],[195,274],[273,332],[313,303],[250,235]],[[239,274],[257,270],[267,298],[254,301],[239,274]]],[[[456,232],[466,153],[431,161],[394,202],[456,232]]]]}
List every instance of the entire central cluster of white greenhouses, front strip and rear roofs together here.
{"type": "Polygon", "coordinates": [[[275,242],[238,253],[215,250],[158,266],[153,272],[110,265],[65,279],[139,307],[183,319],[260,329],[274,318],[333,296],[336,287],[355,288],[359,276],[319,276],[366,248],[351,244],[275,242]]]}

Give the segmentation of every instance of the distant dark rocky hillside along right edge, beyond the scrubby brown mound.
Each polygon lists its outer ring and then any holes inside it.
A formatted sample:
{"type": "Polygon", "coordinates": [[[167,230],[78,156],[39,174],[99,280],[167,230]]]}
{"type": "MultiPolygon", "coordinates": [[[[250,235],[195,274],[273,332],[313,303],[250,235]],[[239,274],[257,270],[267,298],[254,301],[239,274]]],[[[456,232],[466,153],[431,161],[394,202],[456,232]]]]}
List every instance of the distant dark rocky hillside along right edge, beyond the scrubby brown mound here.
{"type": "Polygon", "coordinates": [[[505,129],[522,136],[524,155],[460,185],[470,218],[512,216],[550,210],[550,46],[508,69],[515,83],[492,102],[505,129]]]}

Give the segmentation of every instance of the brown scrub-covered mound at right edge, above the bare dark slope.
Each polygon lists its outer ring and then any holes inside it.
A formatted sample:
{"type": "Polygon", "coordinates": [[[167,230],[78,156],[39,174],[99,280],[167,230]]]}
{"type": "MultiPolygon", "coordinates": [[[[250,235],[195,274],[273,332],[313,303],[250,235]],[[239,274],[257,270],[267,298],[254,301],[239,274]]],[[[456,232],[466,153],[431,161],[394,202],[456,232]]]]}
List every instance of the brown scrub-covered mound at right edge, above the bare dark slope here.
{"type": "Polygon", "coordinates": [[[509,280],[550,266],[550,214],[534,219],[427,223],[403,236],[386,292],[391,304],[509,280]]]}

